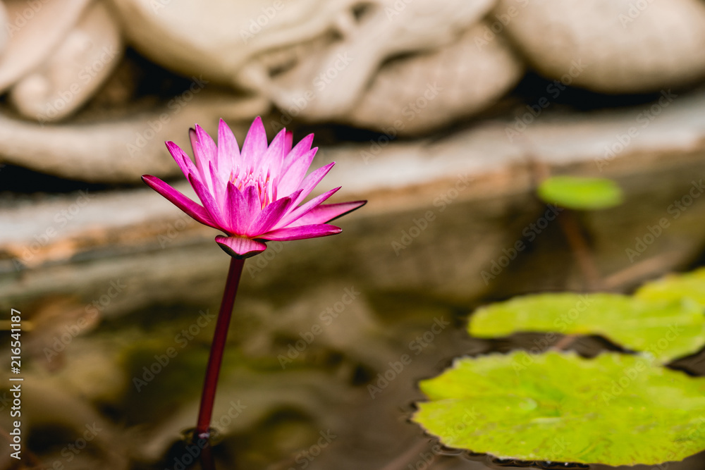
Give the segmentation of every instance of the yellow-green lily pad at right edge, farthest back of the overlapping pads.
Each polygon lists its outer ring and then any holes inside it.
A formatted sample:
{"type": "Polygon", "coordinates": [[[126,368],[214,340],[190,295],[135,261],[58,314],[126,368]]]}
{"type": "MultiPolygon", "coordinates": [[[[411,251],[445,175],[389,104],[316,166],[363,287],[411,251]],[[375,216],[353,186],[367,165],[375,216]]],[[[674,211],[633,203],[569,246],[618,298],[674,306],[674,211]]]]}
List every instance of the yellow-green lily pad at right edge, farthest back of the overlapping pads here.
{"type": "Polygon", "coordinates": [[[651,302],[687,298],[705,308],[705,268],[684,274],[669,274],[646,283],[635,292],[635,297],[651,302]]]}

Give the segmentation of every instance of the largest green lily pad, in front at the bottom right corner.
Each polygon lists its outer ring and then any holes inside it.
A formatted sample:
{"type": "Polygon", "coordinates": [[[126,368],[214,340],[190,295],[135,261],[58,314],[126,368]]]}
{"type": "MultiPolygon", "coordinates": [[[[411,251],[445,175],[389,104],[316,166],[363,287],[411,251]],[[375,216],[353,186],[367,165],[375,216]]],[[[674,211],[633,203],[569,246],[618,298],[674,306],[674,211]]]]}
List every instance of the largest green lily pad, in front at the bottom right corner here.
{"type": "Polygon", "coordinates": [[[412,417],[444,445],[504,459],[635,465],[705,449],[705,378],[607,353],[463,358],[419,384],[412,417]]]}

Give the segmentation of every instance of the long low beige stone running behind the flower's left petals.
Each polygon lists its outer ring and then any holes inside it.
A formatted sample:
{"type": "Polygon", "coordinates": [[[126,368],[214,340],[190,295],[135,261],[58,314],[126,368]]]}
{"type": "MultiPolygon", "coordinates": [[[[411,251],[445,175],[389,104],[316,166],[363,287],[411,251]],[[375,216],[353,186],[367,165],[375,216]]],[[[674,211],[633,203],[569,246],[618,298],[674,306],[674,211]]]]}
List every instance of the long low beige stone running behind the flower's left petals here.
{"type": "MultiPolygon", "coordinates": [[[[196,77],[191,89],[164,104],[109,120],[41,125],[0,113],[0,160],[89,182],[141,184],[146,173],[176,175],[180,171],[164,147],[166,140],[188,149],[188,128],[194,123],[213,131],[214,116],[233,123],[262,111],[256,98],[236,99],[205,85],[196,77]]],[[[237,129],[237,123],[232,127],[237,129]]]]}

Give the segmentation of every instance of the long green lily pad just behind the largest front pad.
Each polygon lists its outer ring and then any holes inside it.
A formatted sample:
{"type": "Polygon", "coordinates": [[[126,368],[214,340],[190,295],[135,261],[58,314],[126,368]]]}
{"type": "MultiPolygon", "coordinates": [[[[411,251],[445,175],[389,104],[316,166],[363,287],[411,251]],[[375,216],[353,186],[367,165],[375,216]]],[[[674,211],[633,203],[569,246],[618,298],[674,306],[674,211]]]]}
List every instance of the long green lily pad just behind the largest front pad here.
{"type": "MultiPolygon", "coordinates": [[[[705,315],[688,298],[647,302],[616,294],[539,294],[478,309],[470,317],[468,331],[479,338],[519,331],[601,335],[666,363],[705,346],[705,315]]],[[[548,343],[554,339],[546,338],[548,343]]]]}

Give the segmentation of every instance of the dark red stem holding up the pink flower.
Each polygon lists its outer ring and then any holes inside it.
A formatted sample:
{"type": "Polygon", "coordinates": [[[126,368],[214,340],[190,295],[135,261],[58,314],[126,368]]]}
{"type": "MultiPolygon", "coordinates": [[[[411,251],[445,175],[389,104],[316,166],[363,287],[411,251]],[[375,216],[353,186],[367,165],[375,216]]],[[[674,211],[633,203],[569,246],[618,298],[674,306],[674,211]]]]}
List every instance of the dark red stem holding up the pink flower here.
{"type": "Polygon", "coordinates": [[[194,433],[195,440],[206,440],[206,442],[208,442],[211,435],[211,419],[213,416],[213,404],[216,398],[218,376],[221,363],[223,362],[226,340],[228,338],[228,326],[230,326],[230,319],[231,316],[233,316],[235,295],[238,293],[238,285],[240,284],[240,276],[243,274],[244,265],[245,259],[233,258],[230,261],[228,280],[225,284],[223,301],[221,302],[221,309],[216,321],[216,330],[213,335],[213,344],[211,345],[211,354],[208,358],[206,378],[201,395],[201,406],[198,410],[198,422],[196,424],[196,432],[194,433]]]}

